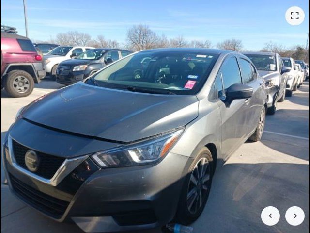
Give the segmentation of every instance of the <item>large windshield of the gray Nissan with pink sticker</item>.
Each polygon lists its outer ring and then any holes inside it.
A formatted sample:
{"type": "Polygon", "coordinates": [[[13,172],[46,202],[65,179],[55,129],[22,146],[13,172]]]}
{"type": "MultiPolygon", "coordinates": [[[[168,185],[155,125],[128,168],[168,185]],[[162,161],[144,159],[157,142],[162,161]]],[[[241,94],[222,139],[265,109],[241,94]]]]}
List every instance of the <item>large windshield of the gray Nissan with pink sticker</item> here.
{"type": "Polygon", "coordinates": [[[218,55],[181,51],[146,51],[128,56],[93,76],[99,86],[159,94],[195,94],[218,55]]]}

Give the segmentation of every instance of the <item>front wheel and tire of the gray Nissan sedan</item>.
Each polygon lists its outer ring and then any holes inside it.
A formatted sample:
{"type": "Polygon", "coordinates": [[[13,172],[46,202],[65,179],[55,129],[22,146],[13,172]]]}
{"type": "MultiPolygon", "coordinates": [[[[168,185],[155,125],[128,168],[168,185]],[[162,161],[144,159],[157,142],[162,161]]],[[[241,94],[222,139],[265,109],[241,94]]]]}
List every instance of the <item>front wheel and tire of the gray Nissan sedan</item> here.
{"type": "MultiPolygon", "coordinates": [[[[204,169],[202,169],[204,170],[204,169]]],[[[202,172],[203,173],[203,172],[202,172]]],[[[175,220],[176,222],[183,224],[183,225],[188,225],[192,222],[194,222],[201,214],[204,209],[204,206],[208,200],[209,193],[210,193],[210,188],[211,188],[211,183],[212,183],[212,177],[213,177],[213,159],[211,152],[208,148],[203,147],[197,154],[196,158],[194,159],[193,163],[189,167],[185,181],[183,184],[183,188],[181,191],[181,196],[178,204],[178,209],[176,212],[175,220]],[[202,178],[200,182],[197,182],[197,185],[194,185],[194,182],[191,179],[192,175],[195,176],[201,172],[199,168],[199,164],[202,163],[207,164],[207,167],[205,168],[206,173],[202,175],[205,179],[208,179],[205,183],[202,182],[202,178]],[[206,163],[207,162],[207,163],[206,163]],[[196,172],[198,171],[198,172],[196,172]],[[194,190],[194,188],[196,189],[194,190]],[[190,191],[193,191],[192,195],[190,195],[190,191]],[[201,195],[200,195],[200,194],[201,195]],[[189,196],[188,196],[189,195],[189,196]],[[187,198],[189,197],[189,199],[187,198]],[[195,201],[195,197],[197,197],[197,201],[195,201]],[[200,198],[201,197],[201,198],[200,198]],[[192,198],[192,199],[191,199],[192,198]],[[200,201],[201,200],[201,201],[200,201]],[[190,203],[188,203],[190,201],[190,203]],[[196,202],[198,205],[195,206],[194,212],[192,212],[191,208],[188,206],[191,204],[191,202],[196,202]],[[199,207],[200,206],[200,207],[199,207]]],[[[195,204],[196,204],[195,203],[195,204]]],[[[194,204],[192,204],[194,205],[194,204]]]]}

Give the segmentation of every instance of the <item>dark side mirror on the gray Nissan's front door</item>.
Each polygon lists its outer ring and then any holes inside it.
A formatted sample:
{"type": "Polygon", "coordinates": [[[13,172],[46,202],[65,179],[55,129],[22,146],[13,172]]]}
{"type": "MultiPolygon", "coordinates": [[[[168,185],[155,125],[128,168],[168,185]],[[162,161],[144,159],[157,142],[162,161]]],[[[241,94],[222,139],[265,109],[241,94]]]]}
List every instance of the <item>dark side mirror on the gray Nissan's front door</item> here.
{"type": "Polygon", "coordinates": [[[226,90],[226,106],[230,106],[233,100],[249,99],[253,96],[253,87],[244,84],[233,84],[226,90]]]}

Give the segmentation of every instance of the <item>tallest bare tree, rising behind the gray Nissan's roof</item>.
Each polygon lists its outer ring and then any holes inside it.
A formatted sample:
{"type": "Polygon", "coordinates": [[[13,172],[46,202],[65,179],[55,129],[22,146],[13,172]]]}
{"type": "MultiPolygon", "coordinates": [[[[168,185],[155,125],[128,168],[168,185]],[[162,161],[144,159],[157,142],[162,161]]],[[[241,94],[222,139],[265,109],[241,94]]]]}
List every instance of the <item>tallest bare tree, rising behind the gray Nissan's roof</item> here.
{"type": "Polygon", "coordinates": [[[145,50],[156,47],[157,35],[147,25],[135,25],[127,31],[127,48],[145,50]]]}

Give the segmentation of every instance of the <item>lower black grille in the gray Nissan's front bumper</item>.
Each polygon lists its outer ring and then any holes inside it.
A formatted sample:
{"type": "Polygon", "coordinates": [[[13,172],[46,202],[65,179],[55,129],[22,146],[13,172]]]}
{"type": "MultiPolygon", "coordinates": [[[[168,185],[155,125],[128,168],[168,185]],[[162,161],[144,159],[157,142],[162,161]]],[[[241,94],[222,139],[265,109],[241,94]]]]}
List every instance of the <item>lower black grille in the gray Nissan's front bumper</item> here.
{"type": "Polygon", "coordinates": [[[24,200],[35,209],[52,216],[54,218],[61,218],[69,202],[51,197],[31,186],[21,182],[10,174],[10,181],[12,188],[16,195],[24,200]]]}

